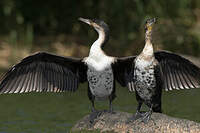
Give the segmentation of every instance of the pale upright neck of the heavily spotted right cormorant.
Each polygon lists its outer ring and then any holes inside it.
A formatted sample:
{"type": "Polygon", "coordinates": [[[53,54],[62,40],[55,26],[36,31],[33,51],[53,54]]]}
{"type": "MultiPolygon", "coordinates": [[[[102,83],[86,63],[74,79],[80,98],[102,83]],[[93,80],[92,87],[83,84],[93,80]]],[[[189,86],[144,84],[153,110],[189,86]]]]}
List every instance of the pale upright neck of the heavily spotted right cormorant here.
{"type": "Polygon", "coordinates": [[[152,31],[147,30],[145,33],[145,46],[142,51],[144,56],[153,56],[153,45],[152,45],[152,31]]]}

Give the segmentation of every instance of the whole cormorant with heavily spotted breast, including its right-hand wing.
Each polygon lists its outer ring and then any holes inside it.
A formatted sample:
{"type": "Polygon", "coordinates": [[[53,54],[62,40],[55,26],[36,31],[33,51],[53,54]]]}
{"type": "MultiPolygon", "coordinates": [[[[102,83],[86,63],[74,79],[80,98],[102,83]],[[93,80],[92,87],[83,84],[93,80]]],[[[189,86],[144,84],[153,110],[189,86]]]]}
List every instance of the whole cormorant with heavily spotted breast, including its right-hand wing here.
{"type": "Polygon", "coordinates": [[[131,118],[148,122],[153,112],[162,112],[162,88],[181,90],[200,87],[200,68],[189,60],[166,51],[153,51],[152,28],[156,19],[148,19],[145,24],[145,46],[143,51],[133,62],[134,72],[131,76],[134,81],[133,89],[138,102],[137,112],[131,118]],[[142,104],[146,104],[149,111],[140,112],[142,104]]]}

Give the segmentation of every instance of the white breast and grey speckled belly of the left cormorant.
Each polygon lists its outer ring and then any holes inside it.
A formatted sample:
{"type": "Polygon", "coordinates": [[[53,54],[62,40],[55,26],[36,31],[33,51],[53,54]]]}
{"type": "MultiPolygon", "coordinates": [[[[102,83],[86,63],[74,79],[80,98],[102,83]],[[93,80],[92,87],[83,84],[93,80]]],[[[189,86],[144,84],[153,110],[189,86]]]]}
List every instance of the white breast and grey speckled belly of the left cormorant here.
{"type": "Polygon", "coordinates": [[[104,57],[99,60],[88,57],[85,60],[88,71],[89,88],[97,100],[107,98],[113,90],[113,71],[111,63],[113,58],[104,57]]]}

